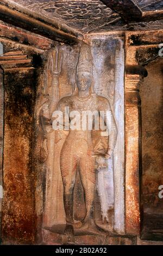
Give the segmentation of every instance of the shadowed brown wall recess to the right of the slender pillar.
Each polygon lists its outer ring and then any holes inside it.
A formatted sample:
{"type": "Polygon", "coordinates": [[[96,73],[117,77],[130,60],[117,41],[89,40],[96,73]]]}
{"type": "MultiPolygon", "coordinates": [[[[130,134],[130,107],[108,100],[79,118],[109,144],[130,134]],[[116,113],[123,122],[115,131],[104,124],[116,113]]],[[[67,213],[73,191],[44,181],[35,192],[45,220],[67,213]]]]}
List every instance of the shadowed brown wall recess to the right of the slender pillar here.
{"type": "Polygon", "coordinates": [[[140,88],[142,100],[143,239],[163,239],[163,84],[161,57],[149,63],[140,88]]]}

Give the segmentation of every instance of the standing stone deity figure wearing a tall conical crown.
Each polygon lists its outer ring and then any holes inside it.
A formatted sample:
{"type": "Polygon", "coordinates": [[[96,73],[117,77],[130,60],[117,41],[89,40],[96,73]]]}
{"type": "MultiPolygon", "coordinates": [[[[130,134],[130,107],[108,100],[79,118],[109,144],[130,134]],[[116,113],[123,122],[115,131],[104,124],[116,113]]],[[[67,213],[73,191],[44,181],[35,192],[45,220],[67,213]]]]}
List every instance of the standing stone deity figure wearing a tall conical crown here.
{"type": "MultiPolygon", "coordinates": [[[[80,47],[76,70],[76,85],[74,86],[73,93],[71,96],[59,100],[57,110],[61,111],[64,116],[68,115],[68,122],[70,124],[70,130],[60,154],[60,170],[64,185],[64,208],[66,213],[65,234],[73,234],[74,228],[97,233],[98,227],[95,223],[94,211],[96,164],[103,164],[105,160],[112,156],[116,145],[117,127],[109,100],[93,92],[91,50],[86,44],[82,44],[80,47]],[[78,111],[80,114],[80,120],[78,120],[80,122],[80,128],[71,129],[71,122],[73,120],[70,113],[72,111],[78,111]],[[108,149],[104,154],[95,152],[92,142],[92,130],[89,126],[86,125],[86,128],[82,129],[83,111],[95,111],[95,113],[103,111],[105,113],[103,119],[106,127],[108,123],[106,120],[106,111],[111,113],[110,125],[107,127],[110,130],[108,149]],[[73,191],[77,172],[79,172],[80,181],[84,190],[86,214],[82,221],[75,223],[73,219],[73,191]]],[[[94,126],[95,116],[93,119],[94,126]]],[[[87,124],[88,122],[89,120],[87,120],[87,124]]],[[[62,123],[61,126],[67,130],[67,124],[62,123]]],[[[48,129],[48,132],[50,130],[48,129]]]]}

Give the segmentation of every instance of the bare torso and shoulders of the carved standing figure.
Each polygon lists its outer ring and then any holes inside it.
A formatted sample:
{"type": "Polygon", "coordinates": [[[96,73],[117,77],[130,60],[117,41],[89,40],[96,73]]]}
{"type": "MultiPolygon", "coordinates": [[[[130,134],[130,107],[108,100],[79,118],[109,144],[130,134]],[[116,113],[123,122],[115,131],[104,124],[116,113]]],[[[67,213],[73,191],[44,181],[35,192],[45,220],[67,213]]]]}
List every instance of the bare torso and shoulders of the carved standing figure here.
{"type": "Polygon", "coordinates": [[[68,137],[79,136],[86,139],[87,136],[91,138],[91,132],[95,128],[95,119],[99,117],[99,111],[110,110],[110,104],[108,99],[96,94],[90,94],[86,98],[79,98],[76,95],[62,98],[58,104],[58,110],[62,111],[64,115],[67,111],[70,124],[68,137]]]}

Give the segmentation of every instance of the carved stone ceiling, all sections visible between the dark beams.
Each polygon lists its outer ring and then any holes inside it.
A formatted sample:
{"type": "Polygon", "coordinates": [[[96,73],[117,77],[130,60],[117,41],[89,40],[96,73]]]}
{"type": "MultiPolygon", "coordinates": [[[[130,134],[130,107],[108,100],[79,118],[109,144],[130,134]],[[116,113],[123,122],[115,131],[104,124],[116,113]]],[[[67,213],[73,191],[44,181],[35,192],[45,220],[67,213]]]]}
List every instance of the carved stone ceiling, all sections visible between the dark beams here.
{"type": "MultiPolygon", "coordinates": [[[[126,29],[128,26],[119,14],[100,0],[7,0],[28,14],[36,14],[41,20],[58,20],[81,33],[94,33],[126,29]]],[[[142,11],[160,10],[162,0],[133,0],[142,11]]],[[[137,28],[161,27],[162,21],[139,22],[137,28]]],[[[130,28],[130,25],[129,25],[130,28]]]]}

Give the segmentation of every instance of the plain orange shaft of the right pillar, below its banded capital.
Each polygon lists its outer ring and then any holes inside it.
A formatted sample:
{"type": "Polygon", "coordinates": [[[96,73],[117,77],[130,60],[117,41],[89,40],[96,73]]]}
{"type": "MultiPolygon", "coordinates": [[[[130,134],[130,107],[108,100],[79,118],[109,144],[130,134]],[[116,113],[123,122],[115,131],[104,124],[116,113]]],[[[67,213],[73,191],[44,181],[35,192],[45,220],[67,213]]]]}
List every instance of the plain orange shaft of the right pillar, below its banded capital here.
{"type": "Polygon", "coordinates": [[[126,106],[126,231],[140,232],[139,109],[126,106]]]}

